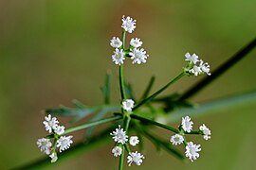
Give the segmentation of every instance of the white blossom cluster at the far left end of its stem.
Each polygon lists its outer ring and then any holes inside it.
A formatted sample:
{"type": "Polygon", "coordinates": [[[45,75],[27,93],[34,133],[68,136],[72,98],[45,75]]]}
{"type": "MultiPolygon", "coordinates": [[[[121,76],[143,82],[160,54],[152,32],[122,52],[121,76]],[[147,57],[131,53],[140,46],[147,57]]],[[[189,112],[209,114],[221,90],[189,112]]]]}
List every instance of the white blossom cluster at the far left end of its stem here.
{"type": "Polygon", "coordinates": [[[50,135],[38,139],[36,144],[42,152],[46,153],[46,155],[51,158],[51,162],[55,162],[58,160],[56,148],[59,147],[60,152],[68,149],[70,144],[73,143],[71,140],[73,136],[62,136],[64,134],[64,126],[60,126],[57,118],[51,117],[50,114],[45,117],[43,124],[50,135]]]}

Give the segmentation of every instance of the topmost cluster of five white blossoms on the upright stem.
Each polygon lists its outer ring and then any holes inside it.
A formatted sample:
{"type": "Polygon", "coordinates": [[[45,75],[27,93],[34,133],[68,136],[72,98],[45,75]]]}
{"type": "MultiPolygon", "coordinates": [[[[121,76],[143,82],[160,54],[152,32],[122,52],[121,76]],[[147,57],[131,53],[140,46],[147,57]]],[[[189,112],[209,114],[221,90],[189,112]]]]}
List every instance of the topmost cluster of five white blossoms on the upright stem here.
{"type": "MultiPolygon", "coordinates": [[[[126,18],[122,16],[121,27],[125,32],[132,33],[136,28],[136,20],[129,16],[126,18]]],[[[145,63],[149,55],[146,54],[146,51],[143,48],[139,48],[142,43],[143,42],[141,42],[140,39],[132,38],[129,48],[125,49],[125,46],[120,39],[118,37],[113,37],[110,41],[110,45],[116,49],[114,51],[114,55],[112,55],[112,60],[118,65],[123,64],[125,57],[131,58],[133,60],[133,64],[145,63]]]]}

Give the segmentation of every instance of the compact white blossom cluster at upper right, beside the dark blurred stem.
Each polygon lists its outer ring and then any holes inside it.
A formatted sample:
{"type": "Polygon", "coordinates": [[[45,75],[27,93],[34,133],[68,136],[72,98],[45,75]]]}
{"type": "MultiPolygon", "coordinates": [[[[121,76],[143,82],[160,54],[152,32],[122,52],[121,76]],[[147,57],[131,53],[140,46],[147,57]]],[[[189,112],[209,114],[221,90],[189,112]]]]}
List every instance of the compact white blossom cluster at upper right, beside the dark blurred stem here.
{"type": "Polygon", "coordinates": [[[198,76],[202,74],[207,74],[210,76],[210,65],[208,62],[204,62],[202,59],[199,59],[196,54],[185,54],[185,60],[188,61],[188,65],[184,67],[185,73],[189,76],[198,76]]]}

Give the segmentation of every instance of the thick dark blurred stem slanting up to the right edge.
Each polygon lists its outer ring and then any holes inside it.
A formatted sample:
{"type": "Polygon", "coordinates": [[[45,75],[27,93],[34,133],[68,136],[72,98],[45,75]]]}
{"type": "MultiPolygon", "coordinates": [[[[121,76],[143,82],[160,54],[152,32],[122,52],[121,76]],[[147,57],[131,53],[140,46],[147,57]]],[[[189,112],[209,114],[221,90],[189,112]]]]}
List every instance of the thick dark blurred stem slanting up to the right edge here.
{"type": "Polygon", "coordinates": [[[226,71],[229,70],[234,64],[236,64],[241,59],[245,58],[247,54],[256,46],[256,38],[249,42],[244,48],[242,48],[240,51],[238,51],[234,56],[232,56],[229,60],[224,62],[222,65],[220,65],[216,70],[214,70],[210,76],[205,77],[201,81],[199,81],[197,84],[192,86],[191,89],[189,89],[186,93],[182,94],[178,100],[182,101],[187,98],[192,97],[195,93],[198,93],[203,88],[205,88],[207,85],[210,84],[214,79],[216,79],[218,76],[221,76],[226,71]]]}

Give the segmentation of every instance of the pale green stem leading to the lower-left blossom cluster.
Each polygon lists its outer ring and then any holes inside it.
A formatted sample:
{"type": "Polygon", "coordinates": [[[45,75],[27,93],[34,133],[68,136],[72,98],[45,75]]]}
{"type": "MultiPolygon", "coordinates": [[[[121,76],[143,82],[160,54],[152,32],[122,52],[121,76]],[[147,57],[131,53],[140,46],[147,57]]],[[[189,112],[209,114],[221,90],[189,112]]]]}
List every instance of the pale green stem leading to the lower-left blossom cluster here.
{"type": "Polygon", "coordinates": [[[116,115],[116,116],[108,117],[108,118],[105,118],[105,119],[101,119],[100,121],[95,121],[95,122],[82,124],[82,125],[77,126],[77,127],[70,127],[70,128],[67,128],[67,129],[64,130],[64,135],[67,134],[67,133],[71,133],[71,132],[74,132],[74,131],[81,130],[83,128],[94,127],[94,126],[97,126],[97,125],[104,124],[106,122],[117,121],[119,119],[122,119],[122,117],[116,115]]]}

